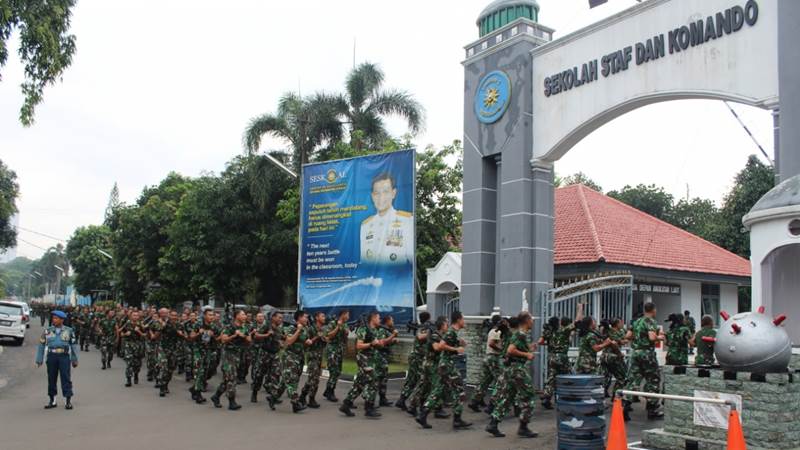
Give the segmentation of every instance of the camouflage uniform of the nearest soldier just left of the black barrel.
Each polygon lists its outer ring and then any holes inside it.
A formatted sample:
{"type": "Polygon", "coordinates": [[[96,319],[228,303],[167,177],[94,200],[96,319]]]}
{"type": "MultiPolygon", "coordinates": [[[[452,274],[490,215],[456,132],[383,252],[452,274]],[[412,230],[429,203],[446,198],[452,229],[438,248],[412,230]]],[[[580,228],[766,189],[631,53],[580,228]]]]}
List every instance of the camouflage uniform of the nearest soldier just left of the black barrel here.
{"type": "MultiPolygon", "coordinates": [[[[511,336],[510,343],[520,352],[531,352],[530,337],[523,331],[515,332],[511,336]]],[[[533,400],[536,397],[529,361],[527,358],[516,356],[507,356],[506,360],[503,384],[498,386],[492,418],[497,421],[503,420],[509,408],[514,406],[516,399],[520,408],[520,421],[528,423],[533,414],[533,400]]]]}

